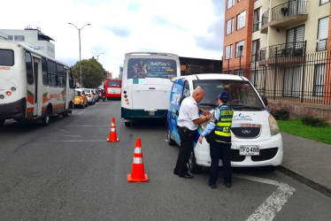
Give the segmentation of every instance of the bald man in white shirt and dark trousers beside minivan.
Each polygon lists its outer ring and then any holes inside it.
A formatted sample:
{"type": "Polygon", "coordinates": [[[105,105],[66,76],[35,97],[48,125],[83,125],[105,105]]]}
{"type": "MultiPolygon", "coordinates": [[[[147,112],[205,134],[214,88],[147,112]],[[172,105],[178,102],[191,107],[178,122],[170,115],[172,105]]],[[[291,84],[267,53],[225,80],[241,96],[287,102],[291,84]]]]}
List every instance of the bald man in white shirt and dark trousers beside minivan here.
{"type": "Polygon", "coordinates": [[[193,175],[189,174],[188,162],[189,156],[193,150],[194,138],[196,136],[197,126],[207,122],[212,118],[208,110],[203,110],[197,106],[204,98],[204,89],[196,88],[193,94],[181,102],[181,109],[177,120],[178,133],[181,138],[180,153],[177,158],[177,164],[173,169],[175,175],[181,178],[192,179],[193,175]],[[206,116],[199,116],[199,110],[206,116]]]}

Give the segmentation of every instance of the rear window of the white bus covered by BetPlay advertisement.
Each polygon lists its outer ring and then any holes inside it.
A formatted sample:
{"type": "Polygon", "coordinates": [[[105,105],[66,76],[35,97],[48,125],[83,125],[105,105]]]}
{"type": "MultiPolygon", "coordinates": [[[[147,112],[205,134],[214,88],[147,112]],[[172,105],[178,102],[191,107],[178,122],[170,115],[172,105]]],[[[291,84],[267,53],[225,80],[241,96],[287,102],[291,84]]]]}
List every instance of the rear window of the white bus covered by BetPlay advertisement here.
{"type": "Polygon", "coordinates": [[[127,62],[127,79],[172,79],[176,76],[177,66],[172,59],[131,58],[127,62]]]}

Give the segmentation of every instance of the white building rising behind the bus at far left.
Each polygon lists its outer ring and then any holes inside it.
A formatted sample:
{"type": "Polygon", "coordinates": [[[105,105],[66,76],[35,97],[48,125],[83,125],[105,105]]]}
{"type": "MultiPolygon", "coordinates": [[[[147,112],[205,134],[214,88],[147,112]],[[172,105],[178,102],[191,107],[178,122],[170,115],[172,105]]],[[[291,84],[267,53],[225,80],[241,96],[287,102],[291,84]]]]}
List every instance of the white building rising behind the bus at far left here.
{"type": "Polygon", "coordinates": [[[26,27],[25,29],[0,29],[6,41],[19,42],[27,47],[38,50],[42,54],[55,58],[55,46],[50,36],[43,34],[40,27],[26,27]]]}

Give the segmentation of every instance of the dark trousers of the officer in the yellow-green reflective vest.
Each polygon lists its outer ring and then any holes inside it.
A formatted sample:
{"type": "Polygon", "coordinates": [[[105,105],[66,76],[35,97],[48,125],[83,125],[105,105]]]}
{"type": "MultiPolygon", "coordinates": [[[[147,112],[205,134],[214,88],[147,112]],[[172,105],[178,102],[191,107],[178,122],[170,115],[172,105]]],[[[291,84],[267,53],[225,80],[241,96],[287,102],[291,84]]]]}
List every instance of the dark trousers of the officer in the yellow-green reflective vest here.
{"type": "Polygon", "coordinates": [[[210,144],[211,149],[211,170],[209,183],[216,184],[217,177],[219,175],[219,159],[222,159],[224,170],[224,182],[231,183],[231,144],[222,142],[213,142],[210,144]]]}

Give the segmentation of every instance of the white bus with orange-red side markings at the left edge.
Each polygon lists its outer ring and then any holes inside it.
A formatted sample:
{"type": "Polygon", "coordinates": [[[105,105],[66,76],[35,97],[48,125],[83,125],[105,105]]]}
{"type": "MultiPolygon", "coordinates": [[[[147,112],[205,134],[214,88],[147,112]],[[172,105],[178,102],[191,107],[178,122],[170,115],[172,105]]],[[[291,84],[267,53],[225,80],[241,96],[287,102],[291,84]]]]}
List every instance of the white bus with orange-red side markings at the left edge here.
{"type": "Polygon", "coordinates": [[[54,58],[17,42],[0,41],[0,126],[5,119],[67,116],[73,108],[73,75],[54,58]]]}

